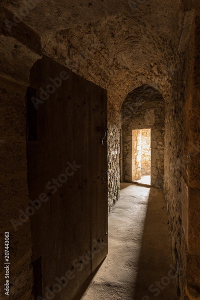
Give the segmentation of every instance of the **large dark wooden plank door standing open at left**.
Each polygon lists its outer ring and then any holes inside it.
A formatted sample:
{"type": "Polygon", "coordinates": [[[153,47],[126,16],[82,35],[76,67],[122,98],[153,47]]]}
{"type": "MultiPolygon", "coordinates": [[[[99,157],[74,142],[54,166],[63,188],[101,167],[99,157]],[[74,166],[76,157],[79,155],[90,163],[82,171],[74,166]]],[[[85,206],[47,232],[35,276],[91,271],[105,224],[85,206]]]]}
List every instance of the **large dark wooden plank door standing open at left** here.
{"type": "Polygon", "coordinates": [[[26,99],[34,296],[70,300],[107,254],[106,91],[43,56],[26,99]]]}

